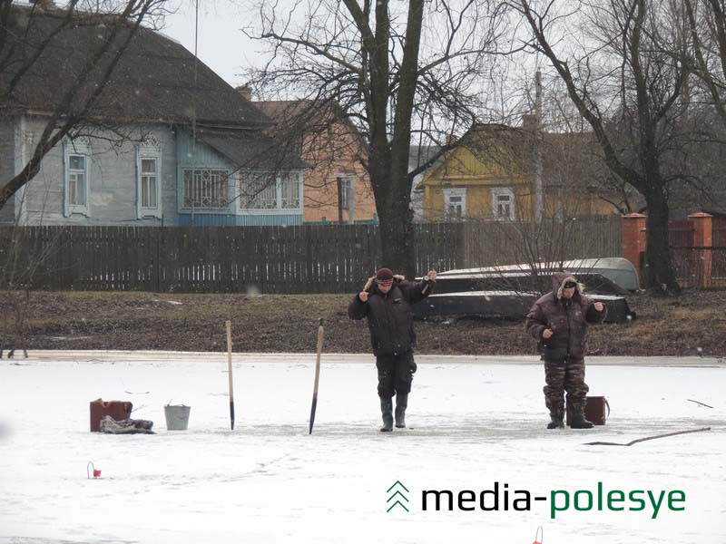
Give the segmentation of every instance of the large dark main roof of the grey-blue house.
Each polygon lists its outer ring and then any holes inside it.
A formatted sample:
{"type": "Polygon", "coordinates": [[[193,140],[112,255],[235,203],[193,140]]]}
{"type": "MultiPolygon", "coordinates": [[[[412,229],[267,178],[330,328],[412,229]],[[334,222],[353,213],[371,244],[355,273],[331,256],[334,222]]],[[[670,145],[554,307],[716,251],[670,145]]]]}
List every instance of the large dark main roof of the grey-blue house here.
{"type": "MultiPolygon", "coordinates": [[[[9,78],[23,65],[23,59],[32,55],[44,39],[52,37],[39,61],[25,73],[3,105],[38,112],[54,111],[64,92],[79,80],[83,66],[93,58],[103,33],[120,21],[115,15],[76,13],[71,24],[64,24],[66,14],[61,9],[31,12],[26,6],[14,7],[10,34],[22,35],[27,31],[27,38],[22,42],[18,38],[5,47],[0,43],[2,54],[8,51],[8,45],[15,45],[15,63],[0,71],[0,96],[7,88],[9,78]]],[[[122,24],[122,34],[129,35],[130,25],[122,24]]],[[[110,53],[105,62],[97,63],[78,96],[93,91],[109,58],[110,53]]],[[[254,126],[270,122],[207,65],[195,61],[194,55],[181,44],[148,28],[140,28],[123,53],[101,100],[94,106],[92,117],[114,121],[191,123],[195,102],[196,121],[200,124],[254,126]]],[[[75,100],[69,112],[77,109],[80,103],[75,100]]]]}

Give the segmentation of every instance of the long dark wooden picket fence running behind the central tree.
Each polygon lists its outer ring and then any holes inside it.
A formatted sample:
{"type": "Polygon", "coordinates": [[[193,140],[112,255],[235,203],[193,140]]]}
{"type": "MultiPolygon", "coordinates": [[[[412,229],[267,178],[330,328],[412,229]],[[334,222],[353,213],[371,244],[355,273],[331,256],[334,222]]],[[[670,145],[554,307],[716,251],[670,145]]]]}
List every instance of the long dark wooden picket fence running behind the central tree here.
{"type": "MultiPolygon", "coordinates": [[[[578,257],[622,254],[616,239],[619,222],[609,224],[614,225],[614,235],[605,238],[612,248],[592,247],[591,255],[578,257]]],[[[415,225],[417,271],[485,266],[482,257],[490,257],[496,248],[482,252],[472,240],[486,238],[486,228],[492,227],[415,225]],[[473,235],[475,229],[479,236],[473,235]]],[[[377,225],[306,225],[0,228],[0,265],[3,287],[12,283],[79,291],[349,293],[383,263],[377,225]]]]}

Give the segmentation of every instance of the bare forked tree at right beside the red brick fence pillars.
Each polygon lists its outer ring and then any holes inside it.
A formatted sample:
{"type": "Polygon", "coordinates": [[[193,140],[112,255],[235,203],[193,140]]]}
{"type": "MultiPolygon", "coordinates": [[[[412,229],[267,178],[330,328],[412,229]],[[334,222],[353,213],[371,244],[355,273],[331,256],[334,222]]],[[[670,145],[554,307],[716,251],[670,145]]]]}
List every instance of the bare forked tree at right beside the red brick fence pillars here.
{"type": "Polygon", "coordinates": [[[672,53],[686,46],[678,10],[672,3],[652,0],[578,2],[569,15],[559,14],[561,4],[551,0],[519,0],[517,5],[534,34],[533,46],[544,53],[592,126],[604,163],[645,199],[644,285],[677,292],[668,243],[668,197],[669,184],[682,180],[683,173],[669,171],[665,163],[688,108],[688,101],[679,98],[689,72],[682,55],[672,53]],[[563,21],[575,37],[558,44],[554,26],[563,21]],[[582,32],[573,33],[578,26],[582,32]]]}

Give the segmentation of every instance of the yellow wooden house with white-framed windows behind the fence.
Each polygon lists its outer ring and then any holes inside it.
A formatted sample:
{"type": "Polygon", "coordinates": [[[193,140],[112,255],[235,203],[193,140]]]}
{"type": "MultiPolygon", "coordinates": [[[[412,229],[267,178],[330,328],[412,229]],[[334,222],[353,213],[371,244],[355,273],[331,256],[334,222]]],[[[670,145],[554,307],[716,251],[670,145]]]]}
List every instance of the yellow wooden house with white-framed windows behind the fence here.
{"type": "Polygon", "coordinates": [[[619,199],[600,187],[604,173],[586,155],[585,134],[540,133],[531,116],[523,128],[476,124],[420,182],[426,221],[609,215],[619,199]],[[539,149],[539,152],[535,152],[539,149]],[[539,178],[541,190],[537,190],[539,178]]]}

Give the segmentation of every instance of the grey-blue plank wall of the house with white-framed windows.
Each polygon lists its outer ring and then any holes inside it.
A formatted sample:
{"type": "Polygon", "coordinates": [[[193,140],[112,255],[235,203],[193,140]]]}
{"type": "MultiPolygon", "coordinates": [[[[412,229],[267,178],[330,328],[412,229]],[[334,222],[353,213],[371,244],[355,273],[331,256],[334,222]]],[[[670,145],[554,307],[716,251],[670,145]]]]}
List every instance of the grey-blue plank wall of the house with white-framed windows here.
{"type": "MultiPolygon", "coordinates": [[[[46,119],[25,115],[0,127],[0,183],[22,170],[44,131],[46,119]]],[[[66,139],[49,151],[38,174],[15,199],[0,209],[0,223],[75,226],[176,226],[176,225],[299,225],[302,223],[303,184],[299,175],[299,209],[240,209],[235,196],[240,174],[230,160],[191,134],[169,124],[119,127],[116,131],[90,128],[75,141],[66,139]],[[119,133],[123,134],[123,138],[119,133]],[[140,143],[160,150],[161,213],[139,217],[138,154],[140,143]],[[68,151],[87,154],[87,206],[74,209],[66,202],[68,151]],[[181,158],[181,159],[180,159],[181,158]],[[183,169],[226,170],[231,174],[231,202],[220,209],[183,207],[183,169]]]]}

